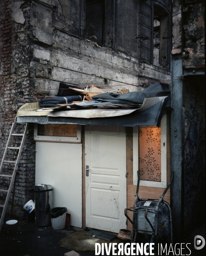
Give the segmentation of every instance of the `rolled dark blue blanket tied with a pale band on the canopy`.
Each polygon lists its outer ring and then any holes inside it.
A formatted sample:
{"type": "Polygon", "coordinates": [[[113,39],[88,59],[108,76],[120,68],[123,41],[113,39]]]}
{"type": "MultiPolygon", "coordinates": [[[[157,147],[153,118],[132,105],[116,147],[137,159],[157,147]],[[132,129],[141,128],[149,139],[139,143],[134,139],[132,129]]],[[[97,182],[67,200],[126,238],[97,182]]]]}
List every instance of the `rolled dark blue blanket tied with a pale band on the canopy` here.
{"type": "Polygon", "coordinates": [[[57,104],[71,104],[73,101],[82,101],[84,95],[65,96],[65,97],[49,97],[39,101],[41,108],[57,107],[57,104]]]}

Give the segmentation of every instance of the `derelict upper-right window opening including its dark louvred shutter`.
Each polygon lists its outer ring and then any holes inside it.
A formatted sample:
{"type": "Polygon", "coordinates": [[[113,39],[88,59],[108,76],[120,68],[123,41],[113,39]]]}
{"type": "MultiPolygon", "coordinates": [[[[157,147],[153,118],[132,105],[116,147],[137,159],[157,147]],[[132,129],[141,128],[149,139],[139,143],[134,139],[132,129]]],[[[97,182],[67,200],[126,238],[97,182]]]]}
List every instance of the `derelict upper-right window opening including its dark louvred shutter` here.
{"type": "Polygon", "coordinates": [[[171,0],[141,0],[139,3],[139,58],[170,68],[171,0]]]}

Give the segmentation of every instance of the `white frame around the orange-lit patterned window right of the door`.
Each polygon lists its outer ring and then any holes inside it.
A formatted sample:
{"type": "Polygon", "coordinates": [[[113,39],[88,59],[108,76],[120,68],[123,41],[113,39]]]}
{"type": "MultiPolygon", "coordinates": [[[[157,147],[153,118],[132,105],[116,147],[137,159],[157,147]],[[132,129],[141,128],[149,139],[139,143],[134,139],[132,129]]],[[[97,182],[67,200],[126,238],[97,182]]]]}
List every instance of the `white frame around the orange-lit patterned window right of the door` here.
{"type": "MultiPolygon", "coordinates": [[[[133,127],[133,185],[137,185],[137,170],[139,170],[139,127],[133,127]]],[[[140,180],[140,186],[165,188],[167,186],[167,115],[161,120],[161,182],[140,180]],[[165,143],[165,144],[164,144],[165,143]]]]}

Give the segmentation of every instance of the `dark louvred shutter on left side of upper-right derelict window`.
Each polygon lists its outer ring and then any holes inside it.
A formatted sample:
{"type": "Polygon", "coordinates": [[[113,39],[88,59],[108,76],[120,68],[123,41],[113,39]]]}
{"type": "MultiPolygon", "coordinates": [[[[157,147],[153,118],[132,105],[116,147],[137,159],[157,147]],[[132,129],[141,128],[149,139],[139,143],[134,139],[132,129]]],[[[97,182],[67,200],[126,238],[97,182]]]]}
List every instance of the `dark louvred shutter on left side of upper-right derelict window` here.
{"type": "Polygon", "coordinates": [[[151,63],[151,0],[139,4],[139,58],[151,63]]]}

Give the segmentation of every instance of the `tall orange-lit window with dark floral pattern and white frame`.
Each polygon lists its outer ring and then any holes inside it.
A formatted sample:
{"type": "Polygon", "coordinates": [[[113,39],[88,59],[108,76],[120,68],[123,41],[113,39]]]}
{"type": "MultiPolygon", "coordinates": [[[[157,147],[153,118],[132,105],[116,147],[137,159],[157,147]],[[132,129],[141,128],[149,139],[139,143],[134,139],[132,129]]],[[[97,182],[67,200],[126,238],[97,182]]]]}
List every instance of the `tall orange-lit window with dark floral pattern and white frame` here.
{"type": "Polygon", "coordinates": [[[166,114],[160,128],[145,126],[133,128],[133,184],[137,184],[137,170],[140,186],[165,188],[167,185],[166,159],[166,114]]]}

